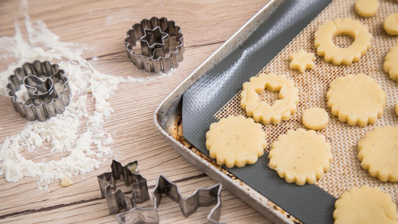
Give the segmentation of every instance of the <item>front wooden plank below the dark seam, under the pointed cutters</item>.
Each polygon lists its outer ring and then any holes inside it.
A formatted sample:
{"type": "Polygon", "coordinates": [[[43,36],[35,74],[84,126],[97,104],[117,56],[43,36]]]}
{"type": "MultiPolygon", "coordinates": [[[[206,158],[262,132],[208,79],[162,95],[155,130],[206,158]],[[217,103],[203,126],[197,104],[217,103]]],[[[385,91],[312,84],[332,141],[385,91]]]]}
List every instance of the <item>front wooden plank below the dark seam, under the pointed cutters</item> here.
{"type": "MultiPolygon", "coordinates": [[[[195,189],[194,186],[212,186],[214,184],[215,181],[209,177],[202,177],[179,183],[179,190],[183,196],[189,196],[193,193],[195,189]]],[[[265,220],[265,218],[253,208],[248,207],[244,202],[232,195],[229,191],[224,189],[222,190],[221,195],[221,222],[234,224],[271,223],[265,220]]],[[[152,197],[151,200],[140,204],[140,206],[148,208],[152,207],[152,197]]],[[[163,196],[162,203],[158,208],[158,214],[160,223],[162,224],[207,223],[206,216],[209,214],[211,208],[212,206],[199,208],[197,212],[188,218],[185,218],[179,209],[179,205],[166,196],[163,196]]],[[[115,215],[109,215],[105,199],[75,204],[53,210],[44,210],[36,213],[13,216],[6,220],[0,220],[0,223],[5,223],[4,221],[7,221],[7,223],[21,223],[27,220],[27,218],[29,218],[29,220],[34,220],[30,223],[117,223],[115,215]]]]}

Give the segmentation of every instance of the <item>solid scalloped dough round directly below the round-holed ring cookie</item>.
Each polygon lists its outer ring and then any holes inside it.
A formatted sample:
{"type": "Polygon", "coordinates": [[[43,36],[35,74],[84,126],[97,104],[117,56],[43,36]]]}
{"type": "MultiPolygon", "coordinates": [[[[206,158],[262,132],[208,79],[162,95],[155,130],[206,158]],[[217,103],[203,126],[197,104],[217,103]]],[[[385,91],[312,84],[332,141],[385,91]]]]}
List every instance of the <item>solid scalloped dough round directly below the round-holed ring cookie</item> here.
{"type": "Polygon", "coordinates": [[[384,114],[386,105],[386,93],[380,84],[362,73],[332,81],[326,98],[332,115],[351,126],[375,124],[384,114]]]}

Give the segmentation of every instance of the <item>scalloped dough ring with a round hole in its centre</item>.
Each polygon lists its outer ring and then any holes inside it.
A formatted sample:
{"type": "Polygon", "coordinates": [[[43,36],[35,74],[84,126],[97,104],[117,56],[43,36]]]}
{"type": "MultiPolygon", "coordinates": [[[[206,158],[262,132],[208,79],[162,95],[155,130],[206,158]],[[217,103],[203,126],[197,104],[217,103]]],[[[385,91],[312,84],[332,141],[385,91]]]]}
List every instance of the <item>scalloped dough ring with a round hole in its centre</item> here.
{"type": "Polygon", "coordinates": [[[332,61],[335,65],[351,65],[359,61],[371,47],[372,35],[367,26],[351,18],[337,18],[319,26],[315,32],[315,47],[317,54],[324,56],[326,62],[332,61]],[[333,43],[333,37],[348,35],[354,39],[348,47],[339,47],[333,43]]]}

